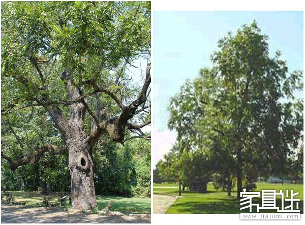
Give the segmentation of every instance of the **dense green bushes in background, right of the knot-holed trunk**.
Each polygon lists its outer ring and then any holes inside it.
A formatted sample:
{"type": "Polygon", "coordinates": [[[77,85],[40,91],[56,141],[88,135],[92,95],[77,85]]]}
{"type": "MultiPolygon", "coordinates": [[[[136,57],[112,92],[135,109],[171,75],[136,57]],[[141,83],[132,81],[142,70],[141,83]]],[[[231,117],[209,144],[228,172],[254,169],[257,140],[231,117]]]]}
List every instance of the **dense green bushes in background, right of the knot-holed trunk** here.
{"type": "Polygon", "coordinates": [[[97,194],[150,197],[150,142],[119,146],[101,139],[94,151],[97,194]]]}

